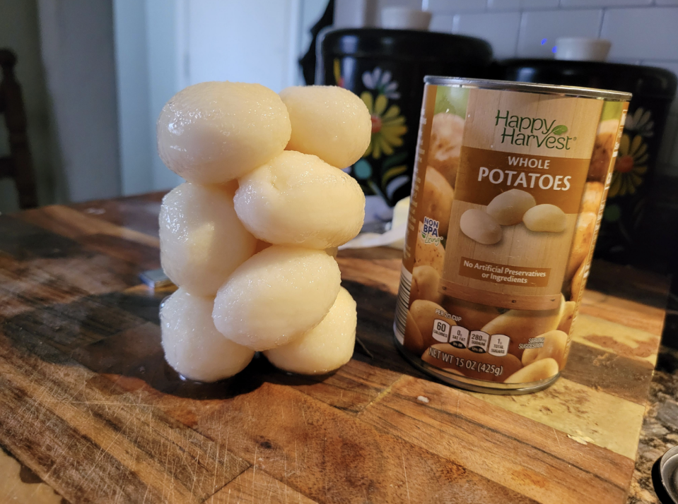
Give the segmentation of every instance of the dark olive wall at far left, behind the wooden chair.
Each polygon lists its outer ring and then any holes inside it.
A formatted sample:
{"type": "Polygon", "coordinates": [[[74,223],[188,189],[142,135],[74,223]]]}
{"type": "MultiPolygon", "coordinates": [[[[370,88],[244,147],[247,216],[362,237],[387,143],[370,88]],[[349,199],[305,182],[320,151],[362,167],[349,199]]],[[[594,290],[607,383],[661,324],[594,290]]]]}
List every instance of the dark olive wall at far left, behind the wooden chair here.
{"type": "MultiPolygon", "coordinates": [[[[16,78],[21,84],[28,116],[28,141],[42,205],[66,199],[64,179],[59,172],[59,150],[40,57],[40,33],[35,0],[0,0],[0,47],[12,49],[18,58],[16,78]]],[[[8,133],[0,116],[0,157],[8,155],[8,133]]],[[[0,212],[18,210],[13,181],[0,181],[0,212]]]]}

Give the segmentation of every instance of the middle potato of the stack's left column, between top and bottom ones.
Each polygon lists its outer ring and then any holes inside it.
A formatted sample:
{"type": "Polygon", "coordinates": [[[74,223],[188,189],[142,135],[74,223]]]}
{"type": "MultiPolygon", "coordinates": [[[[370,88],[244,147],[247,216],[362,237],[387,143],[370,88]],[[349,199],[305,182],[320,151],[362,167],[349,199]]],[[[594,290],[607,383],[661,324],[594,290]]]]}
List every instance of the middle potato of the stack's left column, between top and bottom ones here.
{"type": "Polygon", "coordinates": [[[214,296],[253,253],[257,239],[238,220],[238,184],[181,184],[160,207],[160,261],[165,274],[191,294],[214,296]]]}

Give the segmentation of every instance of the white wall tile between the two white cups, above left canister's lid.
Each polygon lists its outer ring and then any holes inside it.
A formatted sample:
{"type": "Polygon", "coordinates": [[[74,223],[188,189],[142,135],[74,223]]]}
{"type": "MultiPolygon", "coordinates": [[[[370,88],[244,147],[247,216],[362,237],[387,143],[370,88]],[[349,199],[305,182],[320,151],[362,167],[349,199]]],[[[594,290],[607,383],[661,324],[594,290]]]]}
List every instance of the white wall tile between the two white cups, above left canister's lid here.
{"type": "Polygon", "coordinates": [[[515,56],[520,29],[520,13],[457,14],[452,32],[487,40],[497,58],[515,56]]]}

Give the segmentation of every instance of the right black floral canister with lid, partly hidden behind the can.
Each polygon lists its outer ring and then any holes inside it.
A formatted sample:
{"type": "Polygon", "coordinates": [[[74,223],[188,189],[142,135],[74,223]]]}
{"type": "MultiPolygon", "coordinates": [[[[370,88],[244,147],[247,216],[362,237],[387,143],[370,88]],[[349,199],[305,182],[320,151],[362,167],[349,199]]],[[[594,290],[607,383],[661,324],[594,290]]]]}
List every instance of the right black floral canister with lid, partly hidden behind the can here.
{"type": "Polygon", "coordinates": [[[663,68],[597,61],[510,59],[496,78],[518,82],[587,86],[633,93],[607,195],[595,257],[666,272],[676,236],[663,221],[653,195],[655,168],[677,78],[663,68]]]}

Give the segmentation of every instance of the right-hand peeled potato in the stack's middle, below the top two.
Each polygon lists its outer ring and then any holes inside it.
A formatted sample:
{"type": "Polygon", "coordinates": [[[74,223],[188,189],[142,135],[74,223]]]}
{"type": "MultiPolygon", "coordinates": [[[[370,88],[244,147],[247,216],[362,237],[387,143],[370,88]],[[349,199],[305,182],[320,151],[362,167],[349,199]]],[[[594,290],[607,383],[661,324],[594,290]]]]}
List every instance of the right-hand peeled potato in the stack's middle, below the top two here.
{"type": "Polygon", "coordinates": [[[332,248],[363,226],[365,195],[358,182],[317,156],[282,152],[239,182],[235,212],[271,244],[332,248]]]}

